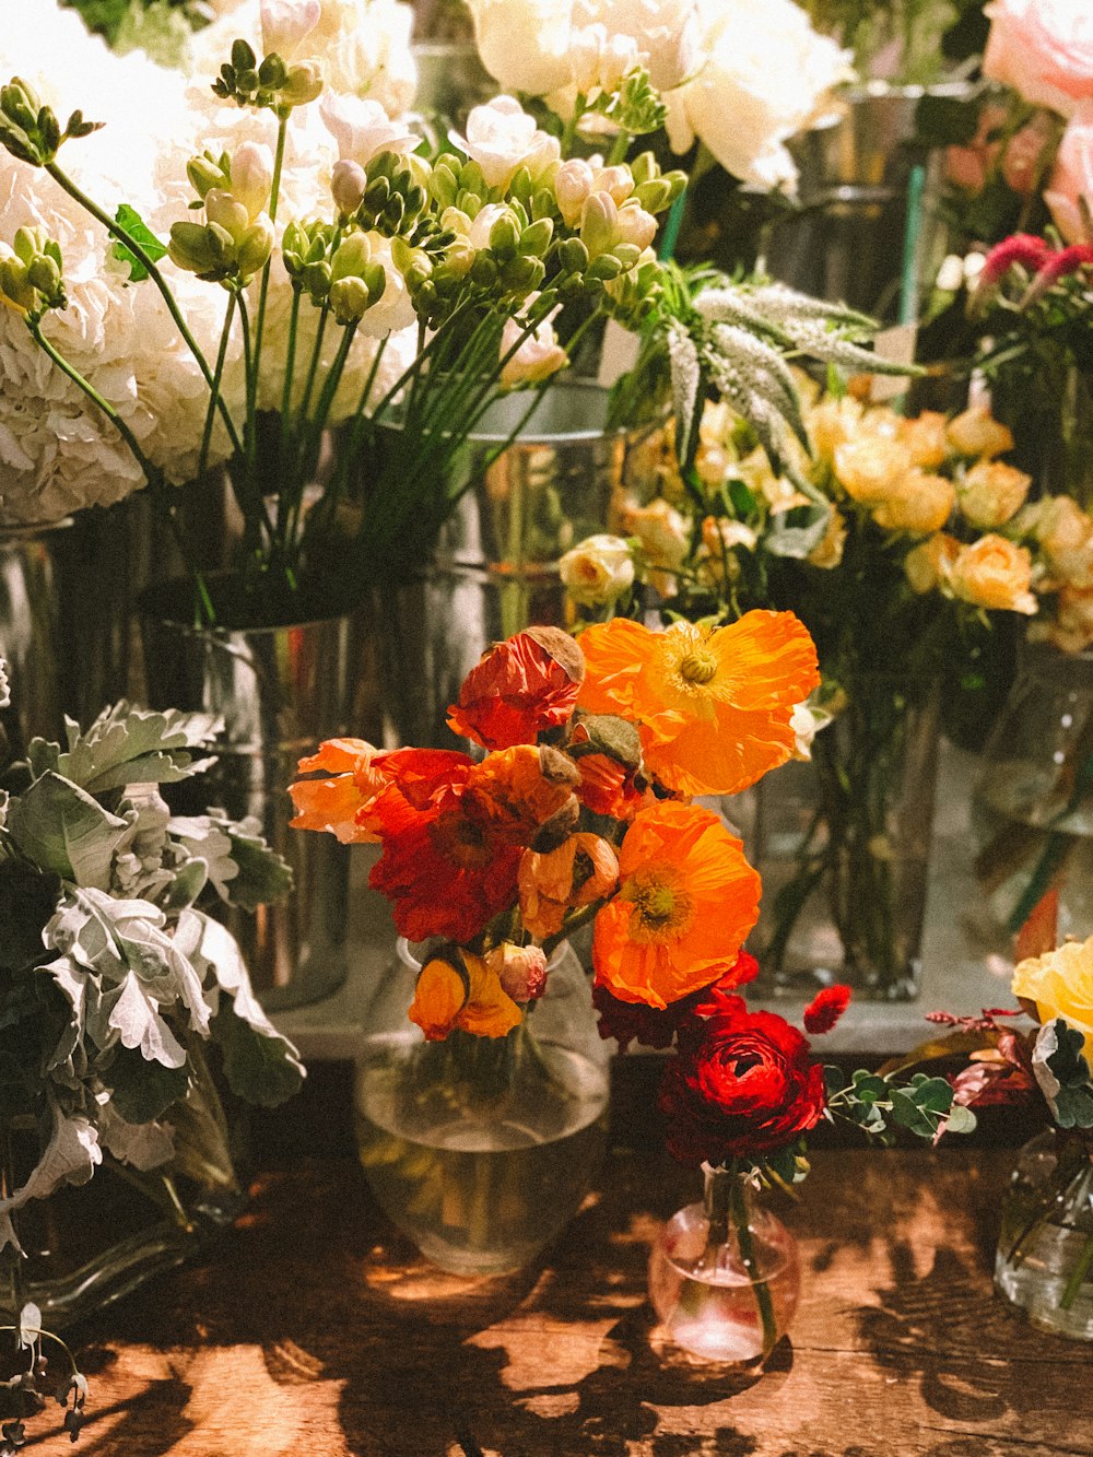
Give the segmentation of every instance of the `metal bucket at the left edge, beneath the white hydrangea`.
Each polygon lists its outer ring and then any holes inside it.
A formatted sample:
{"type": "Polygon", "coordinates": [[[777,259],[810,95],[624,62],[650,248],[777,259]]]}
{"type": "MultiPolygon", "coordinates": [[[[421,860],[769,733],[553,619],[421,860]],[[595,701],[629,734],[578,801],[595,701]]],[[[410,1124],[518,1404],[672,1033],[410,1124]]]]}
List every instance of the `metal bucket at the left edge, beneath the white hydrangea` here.
{"type": "Polygon", "coordinates": [[[133,608],[147,549],[146,503],[93,507],[36,526],[0,526],[0,657],[9,747],[58,739],[131,691],[133,608]]]}

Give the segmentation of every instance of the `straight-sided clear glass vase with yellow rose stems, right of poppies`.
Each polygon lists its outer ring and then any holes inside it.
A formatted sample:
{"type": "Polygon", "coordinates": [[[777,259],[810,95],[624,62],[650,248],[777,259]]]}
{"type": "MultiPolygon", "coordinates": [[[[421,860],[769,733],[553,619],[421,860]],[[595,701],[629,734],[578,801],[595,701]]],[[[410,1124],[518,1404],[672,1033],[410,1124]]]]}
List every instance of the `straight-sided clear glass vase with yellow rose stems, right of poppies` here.
{"type": "Polygon", "coordinates": [[[727,801],[764,884],[749,940],[762,991],[845,982],[858,998],[918,995],[939,717],[928,688],[858,678],[809,763],[727,801]]]}

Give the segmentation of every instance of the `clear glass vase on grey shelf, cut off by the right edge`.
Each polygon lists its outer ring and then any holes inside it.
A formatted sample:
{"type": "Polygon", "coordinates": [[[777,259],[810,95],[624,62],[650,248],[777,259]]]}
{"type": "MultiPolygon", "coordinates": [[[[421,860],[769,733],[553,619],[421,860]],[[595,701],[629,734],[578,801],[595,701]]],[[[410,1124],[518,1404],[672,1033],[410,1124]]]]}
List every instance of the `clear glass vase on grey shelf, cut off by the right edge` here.
{"type": "Polygon", "coordinates": [[[1048,890],[1059,938],[1093,928],[1093,653],[1026,644],[972,800],[976,928],[1008,951],[1048,890]]]}

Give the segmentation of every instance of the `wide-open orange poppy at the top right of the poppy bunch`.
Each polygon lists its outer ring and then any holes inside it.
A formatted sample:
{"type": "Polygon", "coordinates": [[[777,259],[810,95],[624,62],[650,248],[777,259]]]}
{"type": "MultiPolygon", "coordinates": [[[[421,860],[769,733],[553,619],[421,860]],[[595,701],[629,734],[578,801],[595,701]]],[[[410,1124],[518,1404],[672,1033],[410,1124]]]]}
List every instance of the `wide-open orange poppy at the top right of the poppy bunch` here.
{"type": "Polygon", "coordinates": [[[736,794],[786,763],[793,710],[819,683],[816,647],[791,612],[663,632],[614,618],[580,641],[579,705],[637,720],[646,768],[681,794],[736,794]]]}

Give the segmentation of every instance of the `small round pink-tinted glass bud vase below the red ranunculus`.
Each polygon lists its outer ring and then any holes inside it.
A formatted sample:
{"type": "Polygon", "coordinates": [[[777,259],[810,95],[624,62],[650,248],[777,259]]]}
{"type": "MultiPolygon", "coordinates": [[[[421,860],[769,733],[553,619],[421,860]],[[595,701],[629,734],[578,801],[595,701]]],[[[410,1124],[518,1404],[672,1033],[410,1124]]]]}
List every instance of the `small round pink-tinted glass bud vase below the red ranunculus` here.
{"type": "Polygon", "coordinates": [[[649,1260],[663,1333],[707,1361],[765,1359],[800,1295],[797,1241],[755,1195],[751,1176],[702,1164],[701,1203],[675,1214],[649,1260]]]}

